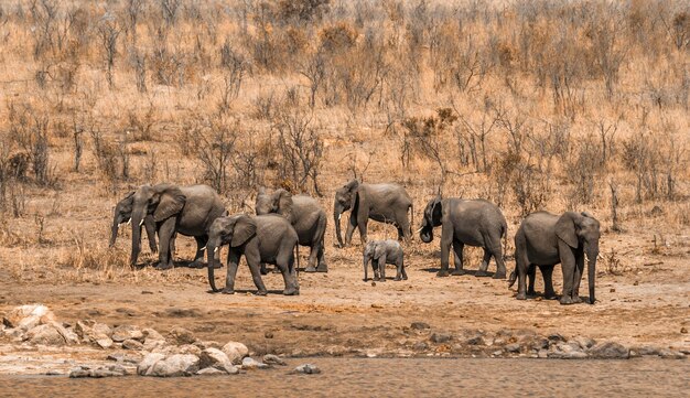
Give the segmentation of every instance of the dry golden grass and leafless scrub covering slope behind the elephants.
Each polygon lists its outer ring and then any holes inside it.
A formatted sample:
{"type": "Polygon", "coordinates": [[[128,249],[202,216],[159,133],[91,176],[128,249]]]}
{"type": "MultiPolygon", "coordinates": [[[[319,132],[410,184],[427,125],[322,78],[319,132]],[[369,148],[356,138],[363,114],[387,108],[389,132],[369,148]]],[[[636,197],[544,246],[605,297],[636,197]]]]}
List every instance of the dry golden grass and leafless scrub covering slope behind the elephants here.
{"type": "Polygon", "coordinates": [[[690,226],[683,1],[0,10],[0,258],[45,278],[174,278],[129,270],[126,236],[106,247],[114,203],[161,181],[213,184],[231,212],[257,184],[320,191],[328,209],[356,175],[403,183],[416,222],[441,186],[496,202],[511,233],[546,208],[587,209],[607,234],[615,183],[610,240],[690,226]]]}

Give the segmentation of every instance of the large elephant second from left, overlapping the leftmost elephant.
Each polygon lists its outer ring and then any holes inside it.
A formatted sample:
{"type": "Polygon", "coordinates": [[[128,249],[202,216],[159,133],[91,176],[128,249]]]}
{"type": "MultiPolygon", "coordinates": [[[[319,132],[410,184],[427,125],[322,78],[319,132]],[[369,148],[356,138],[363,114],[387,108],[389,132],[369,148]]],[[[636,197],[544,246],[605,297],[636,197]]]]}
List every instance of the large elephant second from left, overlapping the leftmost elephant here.
{"type": "Polygon", "coordinates": [[[170,241],[175,234],[193,236],[196,256],[191,267],[203,267],[204,248],[208,228],[218,217],[226,214],[220,196],[208,185],[177,186],[174,184],[143,185],[134,192],[132,204],[132,252],[134,265],[140,251],[141,225],[151,215],[158,225],[158,269],[172,268],[170,241]]]}

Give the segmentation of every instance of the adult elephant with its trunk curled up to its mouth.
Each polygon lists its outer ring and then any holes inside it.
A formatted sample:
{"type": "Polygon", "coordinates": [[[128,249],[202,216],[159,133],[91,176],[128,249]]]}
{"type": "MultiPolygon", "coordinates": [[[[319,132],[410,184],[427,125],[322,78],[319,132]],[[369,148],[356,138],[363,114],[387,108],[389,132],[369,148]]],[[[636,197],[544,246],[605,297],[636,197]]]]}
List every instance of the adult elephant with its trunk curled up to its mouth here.
{"type": "Polygon", "coordinates": [[[465,245],[482,247],[484,258],[476,272],[477,277],[488,277],[488,263],[496,260],[494,279],[506,278],[506,265],[503,260],[502,238],[508,233],[506,218],[495,204],[484,200],[442,198],[441,195],[429,201],[424,208],[419,237],[428,244],[433,240],[433,228],[441,226],[441,270],[439,277],[449,276],[449,257],[453,246],[454,276],[464,275],[463,248],[465,245]]]}

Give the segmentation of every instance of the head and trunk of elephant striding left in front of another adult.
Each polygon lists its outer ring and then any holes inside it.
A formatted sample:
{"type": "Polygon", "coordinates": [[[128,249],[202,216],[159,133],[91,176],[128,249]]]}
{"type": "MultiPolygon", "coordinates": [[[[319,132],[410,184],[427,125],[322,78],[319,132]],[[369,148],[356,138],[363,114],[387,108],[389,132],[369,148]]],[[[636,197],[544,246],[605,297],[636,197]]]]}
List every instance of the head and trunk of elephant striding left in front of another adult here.
{"type": "Polygon", "coordinates": [[[257,223],[247,214],[216,218],[208,229],[206,254],[208,256],[208,283],[216,289],[214,266],[218,261],[218,249],[225,245],[239,247],[245,245],[257,232],[257,223]]]}

